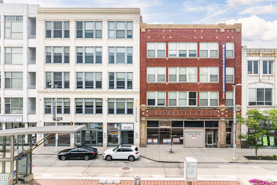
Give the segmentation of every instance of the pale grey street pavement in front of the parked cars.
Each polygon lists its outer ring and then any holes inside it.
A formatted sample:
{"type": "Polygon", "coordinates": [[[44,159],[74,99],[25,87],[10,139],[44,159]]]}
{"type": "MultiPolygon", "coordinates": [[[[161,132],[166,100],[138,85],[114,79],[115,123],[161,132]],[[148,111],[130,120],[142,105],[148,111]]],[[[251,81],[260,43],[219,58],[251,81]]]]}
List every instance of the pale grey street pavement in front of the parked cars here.
{"type": "MultiPolygon", "coordinates": [[[[139,157],[106,161],[101,155],[95,159],[61,161],[57,155],[33,155],[33,173],[37,179],[99,179],[100,177],[132,180],[183,180],[184,163],[162,163],[139,157]],[[128,170],[122,170],[127,167],[128,170]]],[[[198,163],[198,180],[234,181],[236,176],[277,180],[277,164],[259,163],[198,163]]]]}

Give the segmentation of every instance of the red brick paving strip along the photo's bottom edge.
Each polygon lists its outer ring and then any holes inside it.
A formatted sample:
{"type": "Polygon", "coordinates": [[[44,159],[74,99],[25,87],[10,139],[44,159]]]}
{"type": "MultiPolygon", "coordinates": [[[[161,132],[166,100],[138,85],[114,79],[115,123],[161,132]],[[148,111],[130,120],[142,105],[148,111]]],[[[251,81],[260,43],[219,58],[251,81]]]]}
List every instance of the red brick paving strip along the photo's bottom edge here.
{"type": "MultiPolygon", "coordinates": [[[[34,179],[27,185],[99,185],[99,180],[82,179],[34,179]]],[[[122,180],[120,185],[133,185],[132,180],[122,180]]],[[[184,181],[141,181],[141,185],[187,185],[184,181]]],[[[193,185],[240,185],[237,181],[198,181],[192,182],[193,185]]]]}

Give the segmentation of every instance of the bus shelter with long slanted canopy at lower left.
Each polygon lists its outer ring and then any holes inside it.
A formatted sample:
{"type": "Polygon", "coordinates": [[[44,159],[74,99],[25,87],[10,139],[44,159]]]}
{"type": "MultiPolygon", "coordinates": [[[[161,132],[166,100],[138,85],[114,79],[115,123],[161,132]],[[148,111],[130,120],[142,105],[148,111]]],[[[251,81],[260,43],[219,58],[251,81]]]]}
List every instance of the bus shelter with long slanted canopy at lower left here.
{"type": "Polygon", "coordinates": [[[18,179],[29,182],[34,178],[32,172],[32,151],[48,139],[61,133],[75,133],[85,126],[38,126],[14,128],[0,131],[0,184],[20,184],[18,179]],[[32,144],[32,134],[46,134],[32,144]]]}

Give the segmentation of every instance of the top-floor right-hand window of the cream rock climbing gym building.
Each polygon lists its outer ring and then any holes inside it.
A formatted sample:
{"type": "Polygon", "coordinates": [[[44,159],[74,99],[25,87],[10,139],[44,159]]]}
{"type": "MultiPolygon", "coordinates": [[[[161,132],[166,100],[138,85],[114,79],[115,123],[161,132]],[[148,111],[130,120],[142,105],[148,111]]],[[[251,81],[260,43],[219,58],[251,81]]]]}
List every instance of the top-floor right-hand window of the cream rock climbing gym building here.
{"type": "Polygon", "coordinates": [[[108,21],[109,38],[133,38],[132,21],[108,21]]]}

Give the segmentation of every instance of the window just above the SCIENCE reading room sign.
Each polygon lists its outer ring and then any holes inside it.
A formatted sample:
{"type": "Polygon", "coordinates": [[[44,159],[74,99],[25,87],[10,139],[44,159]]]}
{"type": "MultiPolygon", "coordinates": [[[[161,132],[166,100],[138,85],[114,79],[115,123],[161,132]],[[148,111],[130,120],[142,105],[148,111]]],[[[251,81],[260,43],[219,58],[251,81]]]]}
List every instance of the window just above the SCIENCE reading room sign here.
{"type": "Polygon", "coordinates": [[[23,98],[5,98],[5,114],[23,114],[23,98]]]}

